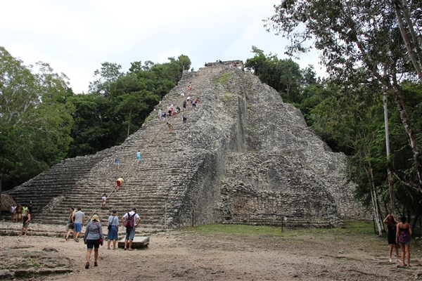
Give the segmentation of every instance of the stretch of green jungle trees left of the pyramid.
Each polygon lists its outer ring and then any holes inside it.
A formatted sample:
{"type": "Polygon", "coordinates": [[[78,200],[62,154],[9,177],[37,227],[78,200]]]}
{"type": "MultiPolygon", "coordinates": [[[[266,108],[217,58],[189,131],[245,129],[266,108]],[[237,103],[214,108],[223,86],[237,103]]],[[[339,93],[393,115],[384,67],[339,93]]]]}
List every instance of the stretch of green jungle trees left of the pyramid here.
{"type": "Polygon", "coordinates": [[[0,47],[0,178],[7,190],[67,157],[119,145],[138,130],[191,60],[103,63],[89,93],[75,94],[65,74],[25,65],[0,47]]]}

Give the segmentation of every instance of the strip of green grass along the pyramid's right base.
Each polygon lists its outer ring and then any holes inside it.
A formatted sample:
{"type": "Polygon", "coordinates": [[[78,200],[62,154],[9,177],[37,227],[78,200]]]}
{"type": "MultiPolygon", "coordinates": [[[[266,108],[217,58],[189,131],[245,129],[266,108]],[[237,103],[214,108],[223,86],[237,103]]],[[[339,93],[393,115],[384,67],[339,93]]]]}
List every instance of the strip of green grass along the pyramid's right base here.
{"type": "Polygon", "coordinates": [[[207,224],[193,228],[183,228],[198,235],[236,235],[255,237],[260,235],[292,237],[292,236],[313,236],[324,235],[372,235],[373,225],[371,221],[347,221],[345,228],[283,228],[279,226],[248,226],[240,224],[207,224]]]}

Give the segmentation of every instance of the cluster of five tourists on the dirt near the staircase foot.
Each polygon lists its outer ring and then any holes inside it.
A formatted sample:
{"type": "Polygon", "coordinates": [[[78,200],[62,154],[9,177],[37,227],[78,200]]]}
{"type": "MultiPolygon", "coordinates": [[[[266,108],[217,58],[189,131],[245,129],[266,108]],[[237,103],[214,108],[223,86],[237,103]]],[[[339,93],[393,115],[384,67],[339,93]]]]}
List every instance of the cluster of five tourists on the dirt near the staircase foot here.
{"type": "MultiPolygon", "coordinates": [[[[65,240],[69,240],[70,233],[73,232],[73,240],[79,242],[79,233],[82,232],[82,225],[85,223],[85,214],[79,207],[75,212],[75,208],[69,209],[68,219],[68,232],[66,233],[65,240]]],[[[124,250],[133,251],[132,248],[133,240],[135,237],[136,228],[141,224],[141,217],[136,213],[136,208],[132,208],[121,218],[122,224],[126,227],[126,236],[124,238],[124,250]]],[[[117,249],[118,231],[120,226],[120,220],[117,216],[117,210],[113,209],[110,216],[108,217],[108,233],[107,233],[107,249],[112,249],[111,242],[113,242],[113,250],[117,249]]],[[[99,248],[104,242],[103,226],[101,226],[100,218],[94,214],[91,220],[87,224],[84,233],[84,243],[87,244],[87,261],[85,268],[88,269],[90,266],[90,259],[92,250],[94,249],[94,266],[98,266],[99,248]]]]}

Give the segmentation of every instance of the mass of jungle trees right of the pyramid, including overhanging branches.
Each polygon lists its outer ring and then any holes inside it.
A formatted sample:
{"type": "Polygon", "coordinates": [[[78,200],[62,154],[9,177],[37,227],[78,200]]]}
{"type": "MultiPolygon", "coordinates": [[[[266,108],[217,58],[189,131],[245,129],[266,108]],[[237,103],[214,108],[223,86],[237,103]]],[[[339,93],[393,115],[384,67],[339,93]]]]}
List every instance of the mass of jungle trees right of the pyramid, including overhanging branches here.
{"type": "Polygon", "coordinates": [[[372,187],[385,211],[411,216],[416,224],[422,206],[422,2],[284,0],[274,11],[265,27],[290,41],[286,54],[316,48],[330,74],[319,85],[302,85],[299,107],[307,122],[351,156],[359,197],[371,202],[372,187]],[[390,108],[389,159],[383,91],[390,108]],[[387,204],[388,169],[395,176],[395,206],[387,204]]]}

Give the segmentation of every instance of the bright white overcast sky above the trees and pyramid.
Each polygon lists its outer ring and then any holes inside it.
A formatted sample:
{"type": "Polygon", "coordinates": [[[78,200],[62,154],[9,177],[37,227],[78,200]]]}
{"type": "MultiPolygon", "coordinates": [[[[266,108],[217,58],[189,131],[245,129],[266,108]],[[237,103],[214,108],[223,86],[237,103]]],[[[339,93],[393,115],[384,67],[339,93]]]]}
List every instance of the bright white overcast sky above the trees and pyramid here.
{"type": "MultiPolygon", "coordinates": [[[[49,63],[70,78],[75,93],[88,91],[101,63],[122,65],[188,55],[195,70],[215,60],[252,58],[252,46],[284,55],[286,41],[267,32],[262,20],[274,14],[274,0],[1,1],[0,46],[25,65],[49,63]]],[[[295,60],[314,65],[318,54],[295,60]]]]}

